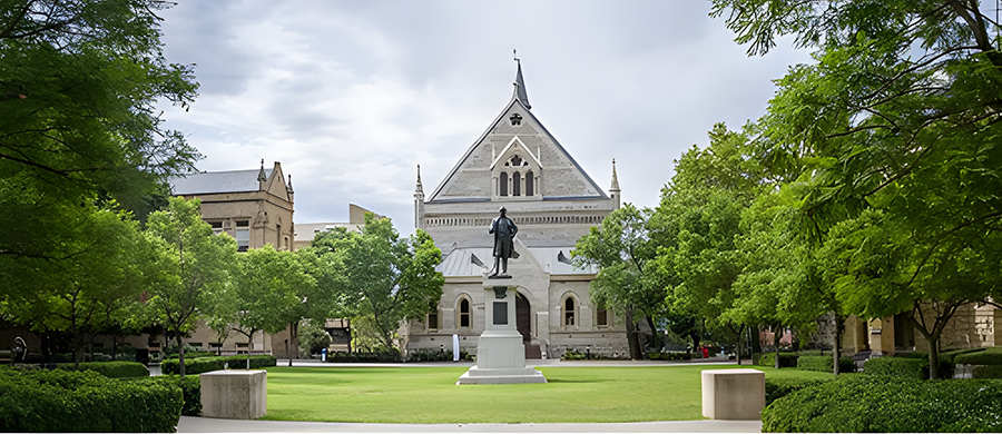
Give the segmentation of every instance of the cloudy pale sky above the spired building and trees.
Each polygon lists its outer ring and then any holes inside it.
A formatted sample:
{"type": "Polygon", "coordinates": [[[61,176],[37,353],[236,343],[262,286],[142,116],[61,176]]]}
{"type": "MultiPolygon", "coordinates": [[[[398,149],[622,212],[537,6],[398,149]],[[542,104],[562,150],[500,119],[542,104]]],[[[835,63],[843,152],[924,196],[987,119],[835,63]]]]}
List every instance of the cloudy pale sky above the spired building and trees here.
{"type": "Polygon", "coordinates": [[[176,0],[166,56],[200,96],[166,109],[199,170],[281,161],[296,223],[347,204],[412,231],[416,165],[432,191],[512,93],[518,49],[532,112],[600,186],[654,207],[672,161],[715,122],[764,114],[808,55],[748,57],[709,1],[176,0]]]}

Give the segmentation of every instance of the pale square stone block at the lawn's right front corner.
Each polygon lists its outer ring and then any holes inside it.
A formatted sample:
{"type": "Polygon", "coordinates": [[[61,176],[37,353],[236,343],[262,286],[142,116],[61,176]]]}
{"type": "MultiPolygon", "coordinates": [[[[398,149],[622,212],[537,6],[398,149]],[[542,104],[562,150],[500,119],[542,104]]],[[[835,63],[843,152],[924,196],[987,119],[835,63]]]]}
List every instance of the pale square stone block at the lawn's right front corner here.
{"type": "Polygon", "coordinates": [[[703,372],[703,415],[715,420],[758,421],[765,407],[765,373],[757,369],[703,372]]]}

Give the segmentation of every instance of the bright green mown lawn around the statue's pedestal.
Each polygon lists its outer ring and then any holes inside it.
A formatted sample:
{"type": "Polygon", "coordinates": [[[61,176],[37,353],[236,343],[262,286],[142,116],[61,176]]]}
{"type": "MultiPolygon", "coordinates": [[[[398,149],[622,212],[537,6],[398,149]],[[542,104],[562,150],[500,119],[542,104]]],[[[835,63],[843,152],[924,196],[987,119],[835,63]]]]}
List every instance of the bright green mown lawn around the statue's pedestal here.
{"type": "MultiPolygon", "coordinates": [[[[703,369],[550,367],[548,384],[465,385],[466,367],[269,367],[265,420],[367,423],[556,423],[701,420],[703,369]]],[[[828,375],[762,368],[768,376],[828,375]]]]}

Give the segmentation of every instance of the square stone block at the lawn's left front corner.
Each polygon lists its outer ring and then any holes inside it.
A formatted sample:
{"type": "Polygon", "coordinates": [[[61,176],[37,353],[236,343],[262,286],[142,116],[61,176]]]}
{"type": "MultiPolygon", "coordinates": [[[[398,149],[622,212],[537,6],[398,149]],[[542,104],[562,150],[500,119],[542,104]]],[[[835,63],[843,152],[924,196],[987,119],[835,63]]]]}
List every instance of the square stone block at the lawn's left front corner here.
{"type": "Polygon", "coordinates": [[[264,371],[213,371],[199,379],[204,417],[258,418],[267,412],[264,371]]]}

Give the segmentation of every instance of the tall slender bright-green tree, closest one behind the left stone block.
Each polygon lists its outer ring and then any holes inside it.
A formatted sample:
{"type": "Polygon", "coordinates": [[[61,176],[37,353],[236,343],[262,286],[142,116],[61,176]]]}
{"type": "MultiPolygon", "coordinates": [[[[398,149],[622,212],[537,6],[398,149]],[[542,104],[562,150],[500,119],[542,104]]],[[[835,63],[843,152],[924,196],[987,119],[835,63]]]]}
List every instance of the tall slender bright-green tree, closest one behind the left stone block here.
{"type": "Polygon", "coordinates": [[[212,226],[202,220],[200,205],[198,199],[171,197],[168,208],[151,214],[146,223],[149,260],[156,264],[149,305],[177,342],[181,376],[181,337],[227,287],[236,263],[236,240],[214,235],[212,226]]]}

